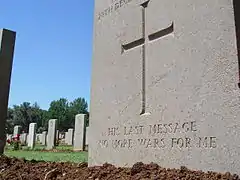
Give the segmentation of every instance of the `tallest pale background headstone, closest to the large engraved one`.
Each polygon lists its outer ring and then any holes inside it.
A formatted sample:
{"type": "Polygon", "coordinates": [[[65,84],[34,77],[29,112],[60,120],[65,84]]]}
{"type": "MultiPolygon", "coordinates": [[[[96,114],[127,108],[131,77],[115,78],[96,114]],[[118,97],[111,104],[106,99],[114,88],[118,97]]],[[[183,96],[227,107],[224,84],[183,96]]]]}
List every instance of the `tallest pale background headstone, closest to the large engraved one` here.
{"type": "Polygon", "coordinates": [[[74,151],[85,150],[86,118],[87,116],[85,114],[78,114],[75,117],[74,151]]]}

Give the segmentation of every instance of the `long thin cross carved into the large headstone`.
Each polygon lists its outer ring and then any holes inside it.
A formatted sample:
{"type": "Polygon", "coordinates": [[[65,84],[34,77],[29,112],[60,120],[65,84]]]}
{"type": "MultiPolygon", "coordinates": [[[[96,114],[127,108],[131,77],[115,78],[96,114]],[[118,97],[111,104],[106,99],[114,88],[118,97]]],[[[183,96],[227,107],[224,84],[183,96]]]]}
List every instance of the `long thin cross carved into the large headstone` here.
{"type": "MultiPolygon", "coordinates": [[[[150,1],[150,0],[149,0],[150,1]]],[[[150,34],[146,36],[146,8],[148,7],[149,1],[143,3],[141,5],[142,7],[142,38],[138,39],[136,41],[130,42],[128,44],[123,44],[122,45],[122,53],[131,50],[136,47],[142,47],[142,109],[140,112],[140,115],[146,114],[146,45],[153,40],[160,39],[161,37],[164,37],[166,35],[169,35],[173,33],[174,30],[174,24],[172,24],[165,28],[162,29],[156,33],[150,34]]]]}

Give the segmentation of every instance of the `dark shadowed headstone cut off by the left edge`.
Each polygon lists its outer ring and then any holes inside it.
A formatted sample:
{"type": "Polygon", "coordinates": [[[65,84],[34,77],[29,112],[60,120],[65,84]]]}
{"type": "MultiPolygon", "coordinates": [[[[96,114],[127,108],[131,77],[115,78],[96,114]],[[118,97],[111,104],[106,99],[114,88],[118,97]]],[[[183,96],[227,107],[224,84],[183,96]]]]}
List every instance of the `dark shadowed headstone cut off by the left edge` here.
{"type": "Polygon", "coordinates": [[[5,123],[12,74],[16,33],[0,29],[0,154],[6,143],[5,123]]]}

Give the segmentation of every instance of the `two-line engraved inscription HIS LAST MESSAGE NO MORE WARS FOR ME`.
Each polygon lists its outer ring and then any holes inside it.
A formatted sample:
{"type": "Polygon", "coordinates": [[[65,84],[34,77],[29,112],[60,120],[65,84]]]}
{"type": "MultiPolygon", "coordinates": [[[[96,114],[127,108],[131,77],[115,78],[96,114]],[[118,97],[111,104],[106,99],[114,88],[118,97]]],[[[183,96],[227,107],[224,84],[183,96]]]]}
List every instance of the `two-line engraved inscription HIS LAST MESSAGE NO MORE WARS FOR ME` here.
{"type": "Polygon", "coordinates": [[[197,133],[196,121],[183,123],[166,123],[153,125],[137,125],[111,127],[105,132],[107,139],[98,141],[99,148],[132,149],[134,147],[163,149],[163,148],[217,148],[215,136],[192,136],[197,133]],[[147,137],[142,137],[148,134],[147,137]],[[176,135],[178,134],[178,135],[176,135]],[[181,134],[181,136],[179,135],[181,134]],[[118,138],[123,135],[124,138],[118,138]]]}

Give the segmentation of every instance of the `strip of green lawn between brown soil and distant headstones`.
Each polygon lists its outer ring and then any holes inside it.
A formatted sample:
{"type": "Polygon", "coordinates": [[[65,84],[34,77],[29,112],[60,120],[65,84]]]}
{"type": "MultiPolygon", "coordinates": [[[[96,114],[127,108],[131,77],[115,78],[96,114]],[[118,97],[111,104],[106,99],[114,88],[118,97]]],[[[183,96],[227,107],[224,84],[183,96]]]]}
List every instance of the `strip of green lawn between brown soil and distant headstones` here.
{"type": "MultiPolygon", "coordinates": [[[[36,147],[35,150],[6,150],[5,155],[9,157],[25,158],[27,160],[43,160],[43,161],[54,161],[54,162],[87,162],[87,152],[42,152],[38,151],[44,147],[36,147]]],[[[71,147],[57,147],[57,149],[68,150],[71,147]]]]}

